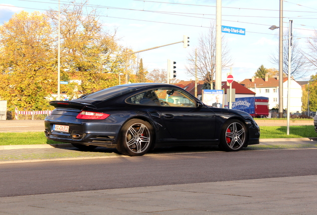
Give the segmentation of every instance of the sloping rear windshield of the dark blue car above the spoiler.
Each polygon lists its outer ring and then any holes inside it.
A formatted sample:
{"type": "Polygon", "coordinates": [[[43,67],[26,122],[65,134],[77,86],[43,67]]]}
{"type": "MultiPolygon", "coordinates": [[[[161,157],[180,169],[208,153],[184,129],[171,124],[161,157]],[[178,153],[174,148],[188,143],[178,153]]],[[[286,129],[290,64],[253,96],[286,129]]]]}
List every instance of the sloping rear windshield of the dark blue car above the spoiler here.
{"type": "Polygon", "coordinates": [[[88,94],[87,96],[83,96],[82,99],[93,99],[93,100],[104,101],[119,95],[126,94],[134,90],[135,90],[134,88],[128,88],[128,87],[111,87],[101,91],[97,91],[92,94],[88,94]]]}

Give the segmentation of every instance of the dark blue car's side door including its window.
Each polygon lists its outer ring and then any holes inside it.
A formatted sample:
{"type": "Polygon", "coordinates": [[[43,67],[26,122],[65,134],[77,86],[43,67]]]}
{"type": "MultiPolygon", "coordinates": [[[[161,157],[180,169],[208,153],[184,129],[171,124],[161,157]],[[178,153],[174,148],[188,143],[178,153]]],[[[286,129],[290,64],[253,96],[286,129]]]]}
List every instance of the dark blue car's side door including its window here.
{"type": "Polygon", "coordinates": [[[177,88],[155,90],[161,105],[164,125],[175,139],[213,139],[215,114],[205,106],[196,107],[196,100],[177,88]]]}

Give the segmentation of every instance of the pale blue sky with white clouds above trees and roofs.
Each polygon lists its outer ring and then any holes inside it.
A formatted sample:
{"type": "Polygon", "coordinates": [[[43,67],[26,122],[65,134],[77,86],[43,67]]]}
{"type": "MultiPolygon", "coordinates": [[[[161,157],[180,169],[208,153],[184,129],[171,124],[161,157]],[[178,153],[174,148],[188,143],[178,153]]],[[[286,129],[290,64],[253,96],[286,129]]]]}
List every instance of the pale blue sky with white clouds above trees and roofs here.
{"type": "MultiPolygon", "coordinates": [[[[68,1],[60,0],[60,3],[68,1]]],[[[78,0],[73,2],[80,2],[78,0]]],[[[284,30],[293,20],[294,35],[299,47],[307,51],[307,39],[317,29],[316,0],[284,0],[284,30]]],[[[141,52],[144,66],[149,71],[167,69],[167,59],[176,62],[177,78],[194,80],[185,72],[188,52],[198,45],[198,38],[208,32],[210,22],[215,22],[216,0],[90,0],[88,4],[100,12],[100,21],[106,29],[118,28],[120,43],[134,51],[182,41],[190,37],[187,48],[182,43],[141,52]]],[[[0,0],[0,24],[21,10],[28,12],[58,9],[58,0],[0,0]]],[[[89,9],[89,8],[88,8],[89,9]]],[[[222,25],[245,28],[245,35],[222,33],[232,57],[235,81],[251,78],[263,64],[278,68],[270,56],[278,56],[280,0],[222,0],[222,25]]],[[[222,81],[229,70],[222,71],[222,81]]],[[[316,71],[306,74],[304,80],[316,71]]]]}

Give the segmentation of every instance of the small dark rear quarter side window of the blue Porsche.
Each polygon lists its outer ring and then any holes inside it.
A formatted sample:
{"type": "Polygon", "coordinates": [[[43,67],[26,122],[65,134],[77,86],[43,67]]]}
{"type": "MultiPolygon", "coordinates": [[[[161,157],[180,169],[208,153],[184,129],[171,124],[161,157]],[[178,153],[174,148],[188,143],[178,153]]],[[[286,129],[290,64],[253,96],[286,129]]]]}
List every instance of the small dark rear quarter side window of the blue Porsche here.
{"type": "Polygon", "coordinates": [[[126,102],[135,105],[159,106],[159,100],[153,90],[132,96],[126,102]]]}

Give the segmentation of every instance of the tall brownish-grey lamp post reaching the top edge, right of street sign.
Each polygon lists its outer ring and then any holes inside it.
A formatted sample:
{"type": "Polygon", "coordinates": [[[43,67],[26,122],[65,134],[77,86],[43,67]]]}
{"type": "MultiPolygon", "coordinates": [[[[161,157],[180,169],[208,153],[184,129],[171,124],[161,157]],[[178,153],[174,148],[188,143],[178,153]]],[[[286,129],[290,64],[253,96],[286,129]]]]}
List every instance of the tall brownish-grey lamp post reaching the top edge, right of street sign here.
{"type": "Polygon", "coordinates": [[[283,0],[280,0],[279,28],[279,117],[283,118],[283,0]]]}

